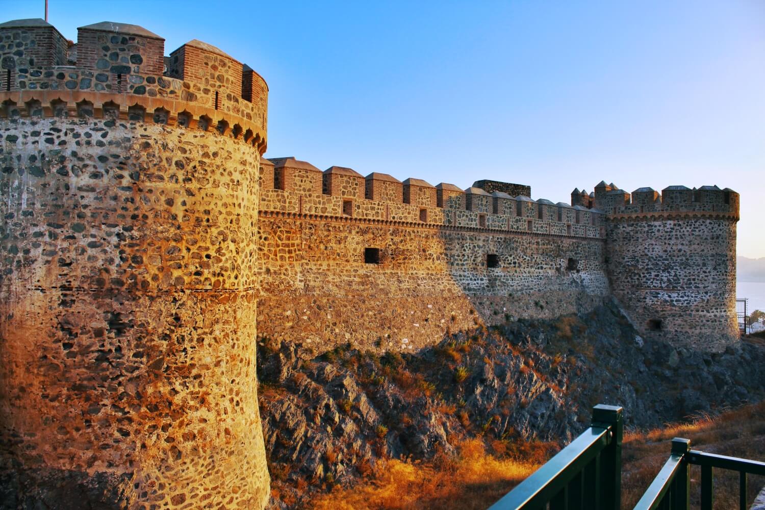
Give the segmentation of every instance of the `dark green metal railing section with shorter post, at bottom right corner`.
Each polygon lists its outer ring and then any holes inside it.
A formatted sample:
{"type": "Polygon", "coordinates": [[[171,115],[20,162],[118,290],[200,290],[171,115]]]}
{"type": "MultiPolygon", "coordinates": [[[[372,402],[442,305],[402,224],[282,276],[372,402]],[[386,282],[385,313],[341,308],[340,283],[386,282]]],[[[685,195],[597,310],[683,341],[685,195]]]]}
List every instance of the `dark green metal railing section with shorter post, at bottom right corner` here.
{"type": "Polygon", "coordinates": [[[747,507],[747,475],[765,476],[765,463],[739,459],[715,453],[691,450],[691,441],[675,437],[672,452],[648,490],[637,502],[635,510],[688,510],[691,492],[691,466],[702,467],[702,510],[712,510],[715,500],[715,479],[712,469],[730,469],[738,472],[738,506],[747,507]]]}

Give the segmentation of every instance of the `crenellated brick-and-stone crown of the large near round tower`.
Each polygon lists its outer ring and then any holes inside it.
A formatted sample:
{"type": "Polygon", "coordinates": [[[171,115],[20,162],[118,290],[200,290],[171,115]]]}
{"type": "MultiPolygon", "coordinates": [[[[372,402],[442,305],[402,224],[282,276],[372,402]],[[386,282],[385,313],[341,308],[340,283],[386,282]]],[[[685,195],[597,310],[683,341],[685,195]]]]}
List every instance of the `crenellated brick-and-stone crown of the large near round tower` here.
{"type": "Polygon", "coordinates": [[[137,106],[154,119],[160,108],[161,117],[241,136],[265,151],[265,80],[196,39],[164,57],[164,39],[137,25],[86,25],[74,44],[43,20],[8,21],[0,24],[0,71],[0,116],[54,114],[62,111],[57,102],[83,116],[111,107],[128,118],[137,106]]]}

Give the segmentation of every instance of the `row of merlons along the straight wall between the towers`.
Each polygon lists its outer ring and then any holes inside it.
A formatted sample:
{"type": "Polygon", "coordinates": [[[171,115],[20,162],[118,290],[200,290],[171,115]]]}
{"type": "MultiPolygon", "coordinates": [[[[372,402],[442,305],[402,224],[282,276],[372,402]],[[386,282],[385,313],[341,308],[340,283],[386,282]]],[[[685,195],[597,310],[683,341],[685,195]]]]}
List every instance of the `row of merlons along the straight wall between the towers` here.
{"type": "Polygon", "coordinates": [[[555,236],[604,236],[604,215],[598,210],[578,210],[566,203],[532,200],[524,195],[512,197],[497,190],[528,190],[519,184],[477,181],[475,184],[487,184],[494,191],[489,193],[477,186],[461,190],[454,184],[433,186],[413,177],[402,182],[377,172],[363,177],[347,167],[333,166],[322,172],[293,157],[262,159],[260,178],[262,213],[555,236]]]}

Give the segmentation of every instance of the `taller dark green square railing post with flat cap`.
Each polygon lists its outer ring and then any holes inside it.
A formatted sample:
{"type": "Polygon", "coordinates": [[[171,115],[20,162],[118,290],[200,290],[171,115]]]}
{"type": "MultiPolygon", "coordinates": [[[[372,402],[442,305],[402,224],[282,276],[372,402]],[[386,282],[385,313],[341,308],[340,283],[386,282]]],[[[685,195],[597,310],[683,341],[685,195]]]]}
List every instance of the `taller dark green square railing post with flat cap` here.
{"type": "Polygon", "coordinates": [[[621,506],[621,446],[624,433],[622,408],[597,404],[592,408],[592,426],[609,428],[608,446],[601,452],[601,494],[596,508],[620,510],[621,506]]]}

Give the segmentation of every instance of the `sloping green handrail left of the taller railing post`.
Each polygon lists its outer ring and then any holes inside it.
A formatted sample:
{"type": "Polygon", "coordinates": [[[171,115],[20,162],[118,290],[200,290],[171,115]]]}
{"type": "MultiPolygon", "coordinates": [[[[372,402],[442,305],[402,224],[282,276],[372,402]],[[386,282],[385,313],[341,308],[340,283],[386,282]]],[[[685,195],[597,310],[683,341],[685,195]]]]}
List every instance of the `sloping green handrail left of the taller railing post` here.
{"type": "Polygon", "coordinates": [[[590,427],[584,430],[544,466],[491,505],[489,510],[516,510],[526,505],[530,505],[529,508],[541,507],[607,447],[610,431],[611,427],[590,427]]]}

